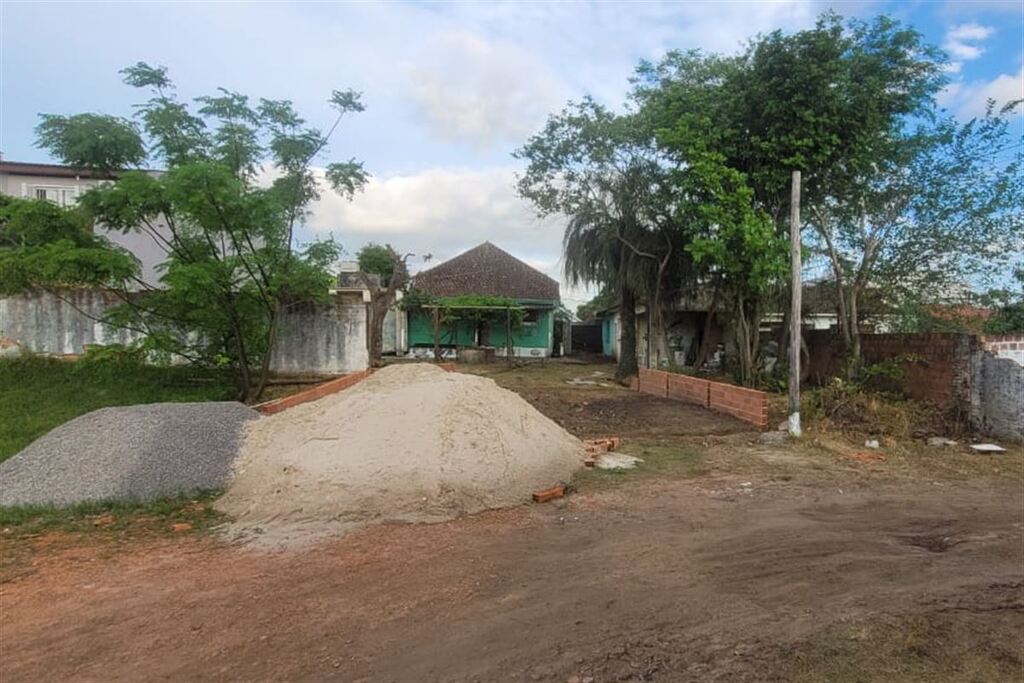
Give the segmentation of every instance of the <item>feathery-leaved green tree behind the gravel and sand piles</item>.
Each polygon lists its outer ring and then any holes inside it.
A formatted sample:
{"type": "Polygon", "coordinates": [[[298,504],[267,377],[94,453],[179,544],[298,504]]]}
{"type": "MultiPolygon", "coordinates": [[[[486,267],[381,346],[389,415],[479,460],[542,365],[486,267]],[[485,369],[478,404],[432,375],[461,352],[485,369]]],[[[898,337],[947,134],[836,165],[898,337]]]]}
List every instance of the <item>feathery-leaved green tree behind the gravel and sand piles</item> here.
{"type": "MultiPolygon", "coordinates": [[[[335,120],[324,134],[287,100],[251,102],[221,89],[186,102],[174,95],[162,67],[139,62],[122,74],[127,84],[151,91],[138,106],[139,126],[78,115],[44,116],[37,128],[38,144],[62,162],[115,176],[82,198],[96,222],[139,231],[165,254],[160,287],[137,272],[92,278],[123,302],[104,322],[139,331],[145,350],[229,367],[239,398],[258,396],[282,311],[327,301],[338,247],[299,245],[295,227],[322,185],[310,165],[342,118],[362,111],[359,95],[332,94],[335,120]],[[166,171],[126,170],[141,163],[140,148],[166,171]],[[275,174],[270,186],[258,182],[264,168],[275,174]],[[136,295],[139,289],[144,296],[136,295]]],[[[368,178],[353,160],[329,165],[325,176],[349,199],[368,178]]],[[[79,253],[79,246],[63,247],[54,261],[79,253]]]]}

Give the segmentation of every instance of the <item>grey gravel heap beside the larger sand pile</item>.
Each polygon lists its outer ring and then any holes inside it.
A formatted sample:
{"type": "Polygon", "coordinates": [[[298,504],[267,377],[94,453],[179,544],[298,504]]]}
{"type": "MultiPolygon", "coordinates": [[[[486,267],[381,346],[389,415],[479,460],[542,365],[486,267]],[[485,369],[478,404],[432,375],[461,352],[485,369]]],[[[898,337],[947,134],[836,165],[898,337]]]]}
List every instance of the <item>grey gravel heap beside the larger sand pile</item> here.
{"type": "Polygon", "coordinates": [[[242,403],[103,408],[0,463],[0,505],[152,500],[227,484],[246,423],[242,403]]]}

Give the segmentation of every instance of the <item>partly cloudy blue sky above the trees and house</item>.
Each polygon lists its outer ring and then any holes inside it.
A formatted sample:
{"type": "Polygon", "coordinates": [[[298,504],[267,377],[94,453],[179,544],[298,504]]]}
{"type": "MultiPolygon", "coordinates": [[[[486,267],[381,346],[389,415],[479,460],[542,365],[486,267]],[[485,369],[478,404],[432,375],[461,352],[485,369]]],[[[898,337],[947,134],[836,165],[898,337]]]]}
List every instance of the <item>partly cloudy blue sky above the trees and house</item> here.
{"type": "MultiPolygon", "coordinates": [[[[362,93],[317,163],[354,158],[372,179],[351,202],[325,191],[303,237],[349,254],[391,243],[436,263],[489,240],[561,280],[563,221],[516,196],[511,153],[568,100],[622,105],[641,59],[671,49],[735,52],[811,26],[826,9],[888,13],[950,57],[942,104],[962,119],[988,97],[1024,97],[1024,0],[903,2],[14,2],[0,0],[0,152],[48,162],[39,114],[131,116],[118,75],[168,68],[178,95],[217,87],[291,99],[314,126],[333,89],[362,93]]],[[[591,292],[563,285],[574,308],[591,292]]]]}

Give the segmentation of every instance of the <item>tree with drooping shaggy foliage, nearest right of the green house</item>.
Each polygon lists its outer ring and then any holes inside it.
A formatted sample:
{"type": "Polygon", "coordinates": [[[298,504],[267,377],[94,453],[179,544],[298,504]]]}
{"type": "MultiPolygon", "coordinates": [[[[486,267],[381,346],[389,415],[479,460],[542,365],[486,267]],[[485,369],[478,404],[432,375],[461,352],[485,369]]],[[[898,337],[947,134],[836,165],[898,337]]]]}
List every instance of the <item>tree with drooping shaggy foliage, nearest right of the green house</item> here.
{"type": "Polygon", "coordinates": [[[636,117],[615,115],[588,98],[550,117],[515,157],[528,162],[519,194],[539,214],[568,219],[562,241],[568,281],[617,292],[616,377],[634,376],[637,297],[649,299],[664,334],[663,293],[679,253],[665,168],[649,130],[636,117]]]}

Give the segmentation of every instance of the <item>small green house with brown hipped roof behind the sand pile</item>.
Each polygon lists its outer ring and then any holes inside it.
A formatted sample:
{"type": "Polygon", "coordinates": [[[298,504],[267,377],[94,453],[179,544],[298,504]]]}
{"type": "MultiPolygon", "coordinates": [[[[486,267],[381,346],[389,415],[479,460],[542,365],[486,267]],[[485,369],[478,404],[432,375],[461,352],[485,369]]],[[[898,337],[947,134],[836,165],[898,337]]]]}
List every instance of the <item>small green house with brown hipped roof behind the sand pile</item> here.
{"type": "MultiPolygon", "coordinates": [[[[512,352],[518,357],[547,357],[559,348],[562,326],[556,324],[561,299],[558,282],[523,263],[489,242],[459,254],[413,278],[414,289],[435,297],[490,296],[512,299],[526,309],[523,323],[512,330],[512,352]]],[[[423,355],[434,347],[432,310],[409,310],[409,350],[423,355]]],[[[504,325],[479,325],[459,319],[439,330],[447,355],[467,347],[493,347],[504,356],[504,325]]]]}

